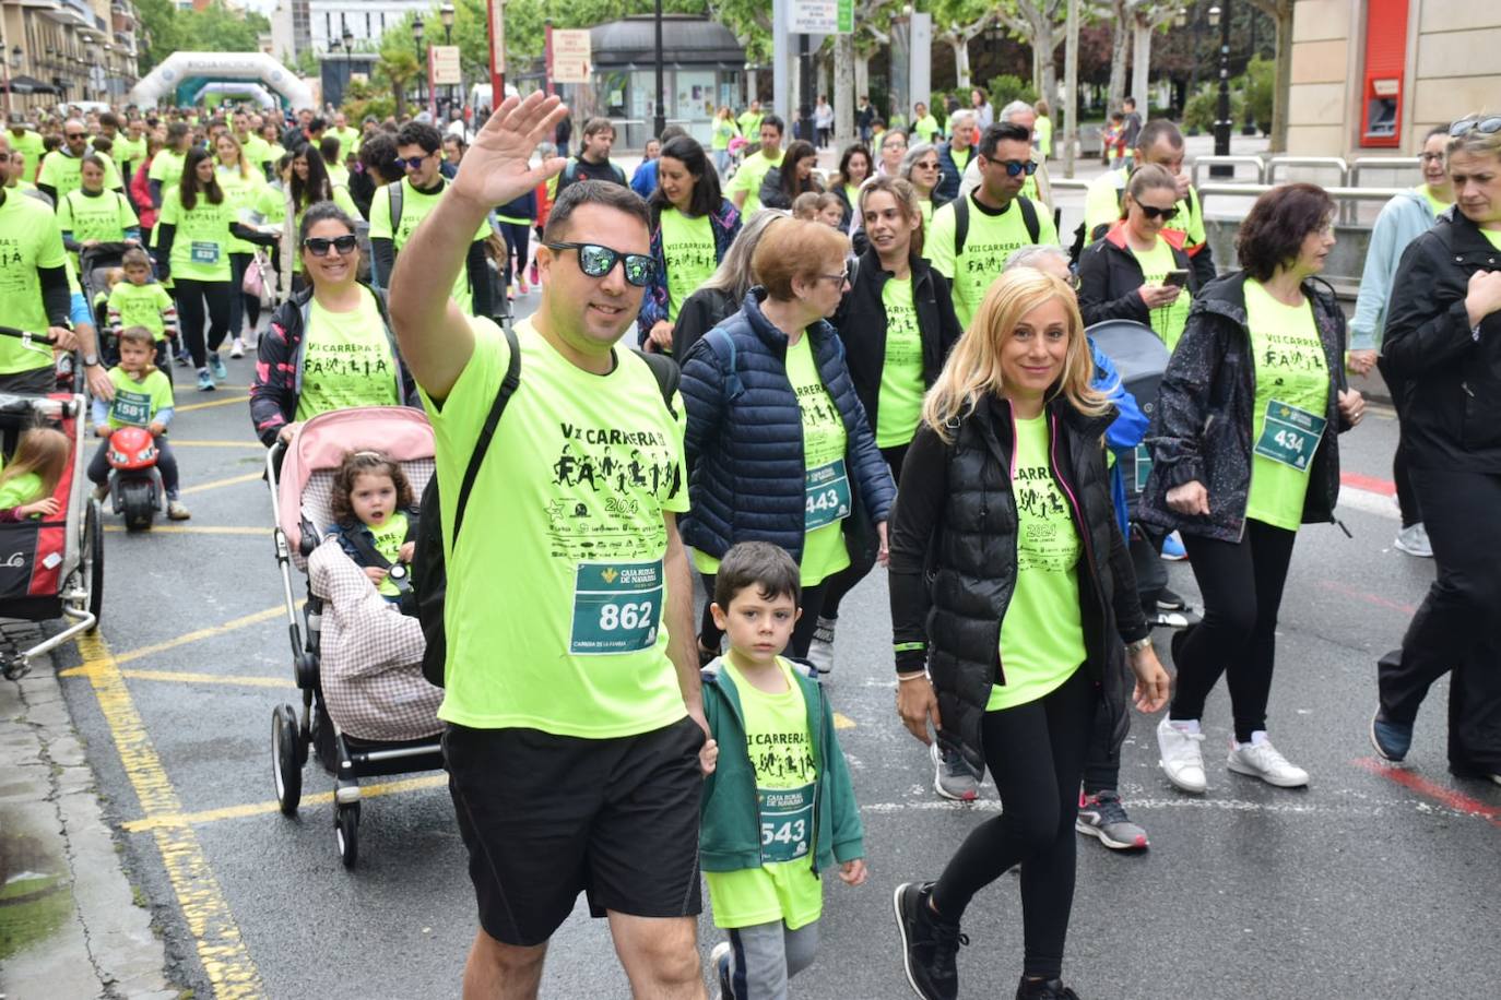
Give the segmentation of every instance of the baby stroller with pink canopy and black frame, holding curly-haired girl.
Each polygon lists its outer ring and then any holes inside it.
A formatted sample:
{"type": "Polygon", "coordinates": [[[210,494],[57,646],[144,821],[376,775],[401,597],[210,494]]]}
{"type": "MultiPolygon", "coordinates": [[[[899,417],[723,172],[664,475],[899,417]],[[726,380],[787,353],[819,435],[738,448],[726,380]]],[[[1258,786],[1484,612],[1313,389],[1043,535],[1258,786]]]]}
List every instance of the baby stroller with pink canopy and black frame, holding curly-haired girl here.
{"type": "MultiPolygon", "coordinates": [[[[438,696],[434,688],[426,688],[420,670],[416,672],[416,681],[423,685],[423,691],[434,694],[429,735],[401,741],[357,738],[347,732],[351,726],[350,715],[335,718],[345,705],[339,697],[330,697],[335,676],[324,678],[321,673],[323,619],[333,609],[315,592],[311,582],[305,615],[302,619],[297,615],[291,568],[308,571],[309,556],[333,526],[330,513],[333,474],[345,451],[362,447],[378,448],[399,462],[416,496],[422,495],[422,489],[434,475],[432,427],[422,411],[407,406],[360,406],[320,414],[302,426],[290,445],[278,442],[266,454],[266,478],[270,483],[272,513],[276,519],[273,538],[287,600],[293,672],[302,691],[300,715],[293,705],[281,705],[272,712],[272,772],[276,781],[276,801],[284,816],[296,816],[302,798],[302,769],[308,762],[311,745],[323,769],[333,775],[336,783],[333,823],[339,858],[345,868],[353,868],[359,856],[359,780],[443,768],[443,750],[437,736],[440,723],[435,715],[438,696]]],[[[416,625],[416,619],[404,621],[416,625]]]]}

